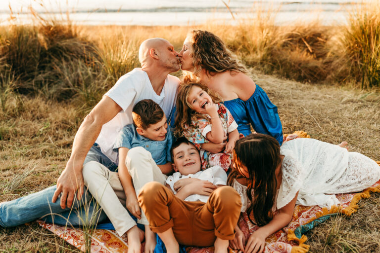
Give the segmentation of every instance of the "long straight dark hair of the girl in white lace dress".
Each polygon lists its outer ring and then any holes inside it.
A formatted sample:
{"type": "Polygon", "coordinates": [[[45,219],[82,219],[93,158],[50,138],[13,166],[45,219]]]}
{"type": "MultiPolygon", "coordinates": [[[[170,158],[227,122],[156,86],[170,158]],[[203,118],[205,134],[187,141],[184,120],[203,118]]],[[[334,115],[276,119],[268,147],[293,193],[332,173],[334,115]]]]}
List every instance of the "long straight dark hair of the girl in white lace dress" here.
{"type": "Polygon", "coordinates": [[[252,200],[247,209],[248,218],[254,223],[250,218],[252,213],[255,223],[263,226],[273,218],[277,184],[281,183],[276,179],[276,168],[281,163],[280,145],[272,136],[251,134],[236,142],[233,155],[237,169],[230,174],[227,183],[232,185],[234,179],[239,177],[238,168],[241,165],[247,167],[246,194],[252,200]]]}

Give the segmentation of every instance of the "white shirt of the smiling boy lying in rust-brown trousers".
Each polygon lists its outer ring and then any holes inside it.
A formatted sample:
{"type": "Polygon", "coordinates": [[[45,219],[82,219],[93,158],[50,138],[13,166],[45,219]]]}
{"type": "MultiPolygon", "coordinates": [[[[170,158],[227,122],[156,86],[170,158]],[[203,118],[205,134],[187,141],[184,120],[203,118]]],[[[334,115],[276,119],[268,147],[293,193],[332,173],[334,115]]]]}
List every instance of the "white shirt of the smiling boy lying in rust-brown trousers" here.
{"type": "MultiPolygon", "coordinates": [[[[174,183],[179,181],[180,179],[189,179],[189,178],[206,180],[206,181],[212,182],[214,185],[227,184],[227,173],[222,169],[222,167],[218,165],[212,166],[204,171],[198,171],[195,174],[189,174],[186,176],[181,175],[181,173],[179,172],[175,172],[173,173],[172,176],[169,176],[166,179],[166,184],[169,184],[174,194],[177,194],[177,192],[174,190],[174,183]]],[[[208,199],[208,196],[206,195],[191,194],[185,199],[185,201],[202,201],[206,203],[207,199],[208,199]]]]}

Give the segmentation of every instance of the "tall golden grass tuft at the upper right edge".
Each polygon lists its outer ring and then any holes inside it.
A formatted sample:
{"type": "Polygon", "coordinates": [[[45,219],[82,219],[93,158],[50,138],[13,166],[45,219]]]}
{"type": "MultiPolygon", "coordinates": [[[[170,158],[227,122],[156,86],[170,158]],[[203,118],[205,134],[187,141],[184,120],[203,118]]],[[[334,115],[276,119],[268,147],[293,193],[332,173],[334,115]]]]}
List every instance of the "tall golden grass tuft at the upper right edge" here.
{"type": "Polygon", "coordinates": [[[362,5],[349,16],[342,36],[351,75],[361,79],[362,88],[380,87],[380,5],[362,5]]]}

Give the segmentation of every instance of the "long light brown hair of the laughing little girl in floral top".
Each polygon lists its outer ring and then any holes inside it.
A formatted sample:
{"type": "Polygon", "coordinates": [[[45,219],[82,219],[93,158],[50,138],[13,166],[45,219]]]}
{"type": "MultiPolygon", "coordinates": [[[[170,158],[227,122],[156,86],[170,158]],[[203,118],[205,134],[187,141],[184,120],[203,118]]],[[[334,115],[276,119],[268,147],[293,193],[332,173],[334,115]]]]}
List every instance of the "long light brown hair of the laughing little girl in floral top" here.
{"type": "Polygon", "coordinates": [[[195,110],[191,109],[190,104],[188,102],[188,97],[190,94],[190,91],[193,87],[199,87],[202,90],[204,90],[208,95],[210,95],[213,103],[218,104],[221,103],[221,98],[214,92],[210,91],[207,86],[197,83],[197,82],[190,82],[190,83],[183,83],[178,88],[177,93],[177,116],[175,120],[175,131],[174,135],[176,137],[184,136],[184,131],[188,129],[189,127],[195,127],[191,123],[191,120],[195,118],[206,118],[206,116],[196,112],[195,110]]]}

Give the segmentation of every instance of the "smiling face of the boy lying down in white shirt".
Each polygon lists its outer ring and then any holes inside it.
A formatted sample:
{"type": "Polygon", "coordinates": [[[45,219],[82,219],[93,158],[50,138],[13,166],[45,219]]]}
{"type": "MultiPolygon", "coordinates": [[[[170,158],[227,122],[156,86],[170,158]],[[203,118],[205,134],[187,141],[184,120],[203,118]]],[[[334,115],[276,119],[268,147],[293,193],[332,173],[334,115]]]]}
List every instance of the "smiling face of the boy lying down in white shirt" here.
{"type": "Polygon", "coordinates": [[[199,152],[192,144],[182,143],[173,149],[173,169],[182,175],[195,174],[200,171],[199,152]]]}

